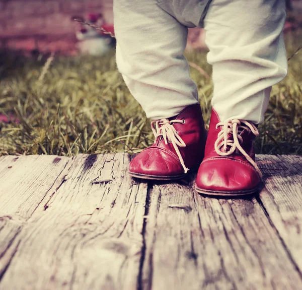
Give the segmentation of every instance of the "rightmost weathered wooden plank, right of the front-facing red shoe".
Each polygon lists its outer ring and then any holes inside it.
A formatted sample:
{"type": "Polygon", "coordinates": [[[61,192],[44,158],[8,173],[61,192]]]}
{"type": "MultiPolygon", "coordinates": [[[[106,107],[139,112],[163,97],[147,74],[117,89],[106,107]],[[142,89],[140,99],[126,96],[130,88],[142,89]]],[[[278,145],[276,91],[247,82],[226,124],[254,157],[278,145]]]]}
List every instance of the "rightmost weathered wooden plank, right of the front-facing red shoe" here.
{"type": "Polygon", "coordinates": [[[302,276],[302,156],[259,155],[258,163],[265,180],[260,200],[302,276]]]}

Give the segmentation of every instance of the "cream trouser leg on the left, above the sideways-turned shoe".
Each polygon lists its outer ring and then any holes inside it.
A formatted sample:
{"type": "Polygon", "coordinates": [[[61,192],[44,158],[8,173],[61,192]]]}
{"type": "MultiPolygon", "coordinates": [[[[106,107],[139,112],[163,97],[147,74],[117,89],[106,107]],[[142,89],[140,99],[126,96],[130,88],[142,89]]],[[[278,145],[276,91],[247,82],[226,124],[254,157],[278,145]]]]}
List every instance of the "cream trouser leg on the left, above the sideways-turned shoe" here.
{"type": "Polygon", "coordinates": [[[114,0],[116,61],[148,118],[162,119],[198,103],[183,52],[188,29],[156,0],[114,0]]]}

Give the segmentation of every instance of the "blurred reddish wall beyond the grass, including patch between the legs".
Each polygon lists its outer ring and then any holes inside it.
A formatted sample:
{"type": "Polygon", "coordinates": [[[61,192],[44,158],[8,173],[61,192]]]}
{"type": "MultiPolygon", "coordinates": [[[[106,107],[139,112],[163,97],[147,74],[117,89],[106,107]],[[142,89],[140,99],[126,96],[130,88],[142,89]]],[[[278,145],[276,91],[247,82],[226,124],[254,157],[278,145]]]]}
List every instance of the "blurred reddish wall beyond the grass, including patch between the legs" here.
{"type": "MultiPolygon", "coordinates": [[[[286,1],[289,13],[302,14],[302,1],[286,1]]],[[[0,47],[25,52],[89,53],[77,43],[100,38],[101,33],[91,35],[85,31],[88,26],[81,27],[72,19],[89,21],[111,31],[112,6],[113,0],[1,0],[0,47]]],[[[289,19],[285,31],[296,28],[294,19],[289,19]]],[[[190,29],[187,49],[204,49],[204,38],[202,29],[190,29]]],[[[102,46],[101,42],[99,45],[102,46]]]]}

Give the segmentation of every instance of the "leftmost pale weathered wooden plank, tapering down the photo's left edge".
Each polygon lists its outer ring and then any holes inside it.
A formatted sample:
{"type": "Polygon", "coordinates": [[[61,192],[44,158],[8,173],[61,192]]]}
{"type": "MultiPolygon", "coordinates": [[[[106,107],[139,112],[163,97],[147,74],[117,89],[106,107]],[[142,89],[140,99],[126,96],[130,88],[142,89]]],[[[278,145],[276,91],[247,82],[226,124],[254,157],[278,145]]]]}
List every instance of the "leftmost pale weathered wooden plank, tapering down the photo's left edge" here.
{"type": "Polygon", "coordinates": [[[0,159],[0,278],[17,250],[24,223],[56,184],[67,160],[39,155],[0,159]]]}

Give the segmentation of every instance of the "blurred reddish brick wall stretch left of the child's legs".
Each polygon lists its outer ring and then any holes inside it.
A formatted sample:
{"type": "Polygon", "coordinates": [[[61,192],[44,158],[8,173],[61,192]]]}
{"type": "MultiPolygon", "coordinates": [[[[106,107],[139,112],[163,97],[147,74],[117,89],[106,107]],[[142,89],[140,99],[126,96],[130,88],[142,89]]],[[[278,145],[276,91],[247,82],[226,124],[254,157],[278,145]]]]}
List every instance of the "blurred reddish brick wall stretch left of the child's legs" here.
{"type": "Polygon", "coordinates": [[[74,53],[72,16],[102,13],[113,22],[113,0],[0,0],[0,46],[74,53]]]}

